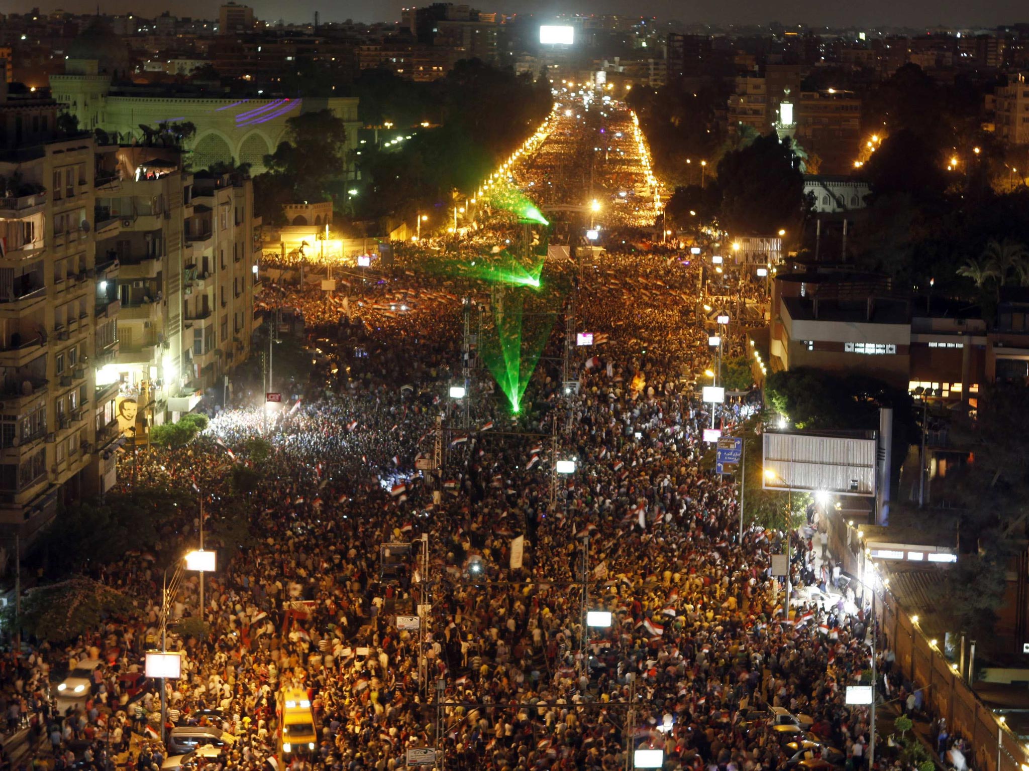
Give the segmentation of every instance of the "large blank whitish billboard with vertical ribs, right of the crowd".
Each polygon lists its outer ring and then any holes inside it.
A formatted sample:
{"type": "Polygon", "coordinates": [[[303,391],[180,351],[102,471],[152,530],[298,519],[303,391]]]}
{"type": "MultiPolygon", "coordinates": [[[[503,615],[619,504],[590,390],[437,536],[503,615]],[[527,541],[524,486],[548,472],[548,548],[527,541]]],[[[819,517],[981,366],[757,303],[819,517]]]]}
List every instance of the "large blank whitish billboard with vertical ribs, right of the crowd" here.
{"type": "Polygon", "coordinates": [[[761,435],[761,485],[771,490],[875,495],[876,445],[875,439],[767,431],[761,435]]]}

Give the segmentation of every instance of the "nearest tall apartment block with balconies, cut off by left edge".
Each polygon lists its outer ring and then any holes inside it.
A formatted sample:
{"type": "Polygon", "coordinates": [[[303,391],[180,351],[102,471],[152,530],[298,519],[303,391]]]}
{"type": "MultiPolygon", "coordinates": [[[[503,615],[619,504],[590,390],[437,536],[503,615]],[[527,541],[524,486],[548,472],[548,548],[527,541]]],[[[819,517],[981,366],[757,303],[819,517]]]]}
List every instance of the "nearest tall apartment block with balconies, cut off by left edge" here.
{"type": "Polygon", "coordinates": [[[93,139],[59,137],[57,115],[48,95],[0,80],[0,536],[23,542],[60,499],[111,481],[93,416],[118,305],[96,273],[93,139]]]}

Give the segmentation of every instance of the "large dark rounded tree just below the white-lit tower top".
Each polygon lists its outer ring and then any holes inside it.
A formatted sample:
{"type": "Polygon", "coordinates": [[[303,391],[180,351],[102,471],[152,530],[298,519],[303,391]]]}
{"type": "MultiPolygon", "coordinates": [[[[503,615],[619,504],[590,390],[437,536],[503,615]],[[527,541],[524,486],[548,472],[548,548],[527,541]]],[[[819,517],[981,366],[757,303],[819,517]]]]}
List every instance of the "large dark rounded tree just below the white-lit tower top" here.
{"type": "Polygon", "coordinates": [[[788,142],[774,133],[718,162],[721,224],[731,233],[792,229],[804,216],[804,175],[788,142]]]}

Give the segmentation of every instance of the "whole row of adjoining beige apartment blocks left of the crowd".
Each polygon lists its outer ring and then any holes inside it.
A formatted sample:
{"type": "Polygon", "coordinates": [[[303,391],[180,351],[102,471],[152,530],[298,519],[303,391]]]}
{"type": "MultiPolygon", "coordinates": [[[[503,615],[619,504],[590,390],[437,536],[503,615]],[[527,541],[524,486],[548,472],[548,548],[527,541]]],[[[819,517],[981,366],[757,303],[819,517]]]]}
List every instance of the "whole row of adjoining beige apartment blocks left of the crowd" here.
{"type": "Polygon", "coordinates": [[[58,110],[0,81],[0,540],[23,544],[221,387],[259,323],[249,178],[61,136],[58,110]]]}

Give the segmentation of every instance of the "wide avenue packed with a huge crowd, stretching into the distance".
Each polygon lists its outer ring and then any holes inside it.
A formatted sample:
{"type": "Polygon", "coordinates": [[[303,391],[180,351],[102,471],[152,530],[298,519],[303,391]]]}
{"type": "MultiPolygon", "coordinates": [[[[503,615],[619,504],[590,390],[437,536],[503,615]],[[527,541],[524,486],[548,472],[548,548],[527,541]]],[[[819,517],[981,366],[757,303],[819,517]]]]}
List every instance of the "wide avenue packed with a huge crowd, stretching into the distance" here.
{"type": "MultiPolygon", "coordinates": [[[[91,563],[137,616],[4,662],[8,736],[32,726],[17,766],[868,762],[870,712],[844,698],[871,682],[864,597],[835,586],[814,507],[788,533],[741,523],[736,477],[703,441],[760,428],[758,393],[712,415],[700,387],[705,303],[752,309],[764,287],[700,287],[688,249],[653,228],[662,190],[635,116],[567,84],[558,102],[453,232],[395,244],[391,265],[341,264],[334,289],[317,260],[303,286],[307,258],[262,265],[270,317],[303,320],[273,356],[303,346],[311,365],[235,381],[184,447],[122,455],[123,489],[196,488],[206,519],[184,510],[147,555],[91,563]],[[513,198],[538,207],[529,221],[513,198]],[[233,464],[257,472],[251,489],[233,464]],[[233,506],[241,541],[218,526],[233,506]],[[215,570],[185,571],[166,601],[204,526],[215,570]],[[785,553],[788,602],[771,575],[785,553]],[[163,637],[182,652],[164,709],[162,681],[130,693],[125,676],[163,637]],[[96,659],[81,700],[51,703],[50,682],[96,659]],[[183,743],[198,734],[183,727],[213,738],[183,743]]],[[[745,353],[742,325],[724,334],[725,356],[745,353]]],[[[911,705],[882,636],[879,653],[880,690],[911,705]]],[[[884,733],[876,763],[901,768],[884,733]]]]}

